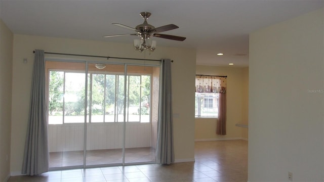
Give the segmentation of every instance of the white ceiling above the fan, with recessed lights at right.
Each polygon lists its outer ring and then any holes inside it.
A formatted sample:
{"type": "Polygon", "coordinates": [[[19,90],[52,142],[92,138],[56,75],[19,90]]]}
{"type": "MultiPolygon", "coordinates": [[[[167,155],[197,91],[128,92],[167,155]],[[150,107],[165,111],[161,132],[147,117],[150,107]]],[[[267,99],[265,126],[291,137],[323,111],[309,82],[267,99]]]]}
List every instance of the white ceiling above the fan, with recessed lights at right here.
{"type": "Polygon", "coordinates": [[[134,33],[111,23],[131,27],[143,23],[140,12],[151,12],[148,23],[175,24],[164,34],[184,41],[155,38],[158,46],[195,48],[197,64],[245,67],[249,64],[249,33],[323,7],[323,0],[215,0],[215,1],[28,1],[1,0],[1,18],[18,34],[131,43],[134,33]],[[217,53],[224,56],[216,56],[217,53]]]}

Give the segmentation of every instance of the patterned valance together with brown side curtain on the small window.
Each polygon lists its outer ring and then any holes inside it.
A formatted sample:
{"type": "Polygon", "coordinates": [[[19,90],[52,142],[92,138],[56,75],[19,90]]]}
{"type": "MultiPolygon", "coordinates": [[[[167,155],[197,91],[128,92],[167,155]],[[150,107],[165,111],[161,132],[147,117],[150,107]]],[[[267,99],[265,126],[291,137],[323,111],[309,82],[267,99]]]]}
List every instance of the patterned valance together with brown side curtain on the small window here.
{"type": "Polygon", "coordinates": [[[196,93],[218,93],[216,134],[226,135],[226,76],[196,75],[196,93]]]}

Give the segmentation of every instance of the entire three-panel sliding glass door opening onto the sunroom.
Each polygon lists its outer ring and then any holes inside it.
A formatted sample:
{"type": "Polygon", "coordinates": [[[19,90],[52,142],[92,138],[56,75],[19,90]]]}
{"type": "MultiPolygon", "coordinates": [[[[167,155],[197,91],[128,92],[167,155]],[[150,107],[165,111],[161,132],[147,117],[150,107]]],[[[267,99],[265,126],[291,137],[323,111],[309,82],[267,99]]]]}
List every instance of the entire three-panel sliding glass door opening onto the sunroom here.
{"type": "Polygon", "coordinates": [[[159,68],[47,61],[50,167],[155,162],[159,68]]]}

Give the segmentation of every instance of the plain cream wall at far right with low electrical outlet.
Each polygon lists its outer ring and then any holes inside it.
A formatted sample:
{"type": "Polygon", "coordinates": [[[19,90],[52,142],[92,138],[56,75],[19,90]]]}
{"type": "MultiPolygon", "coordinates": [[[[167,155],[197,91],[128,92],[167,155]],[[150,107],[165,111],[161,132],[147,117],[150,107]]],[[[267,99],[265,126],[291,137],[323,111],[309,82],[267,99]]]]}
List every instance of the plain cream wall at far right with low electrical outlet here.
{"type": "Polygon", "coordinates": [[[250,34],[249,181],[324,181],[323,9],[250,34]]]}

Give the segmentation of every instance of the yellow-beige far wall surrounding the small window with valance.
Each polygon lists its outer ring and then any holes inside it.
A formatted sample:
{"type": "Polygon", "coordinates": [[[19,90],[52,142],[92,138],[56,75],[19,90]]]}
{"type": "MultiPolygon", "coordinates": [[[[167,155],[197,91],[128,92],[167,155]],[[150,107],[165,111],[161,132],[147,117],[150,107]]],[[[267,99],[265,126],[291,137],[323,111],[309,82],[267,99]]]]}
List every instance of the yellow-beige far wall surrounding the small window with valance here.
{"type": "Polygon", "coordinates": [[[196,74],[227,76],[226,83],[226,135],[216,134],[216,119],[195,119],[195,140],[248,139],[247,128],[235,124],[248,125],[248,68],[196,66],[196,74]]]}

